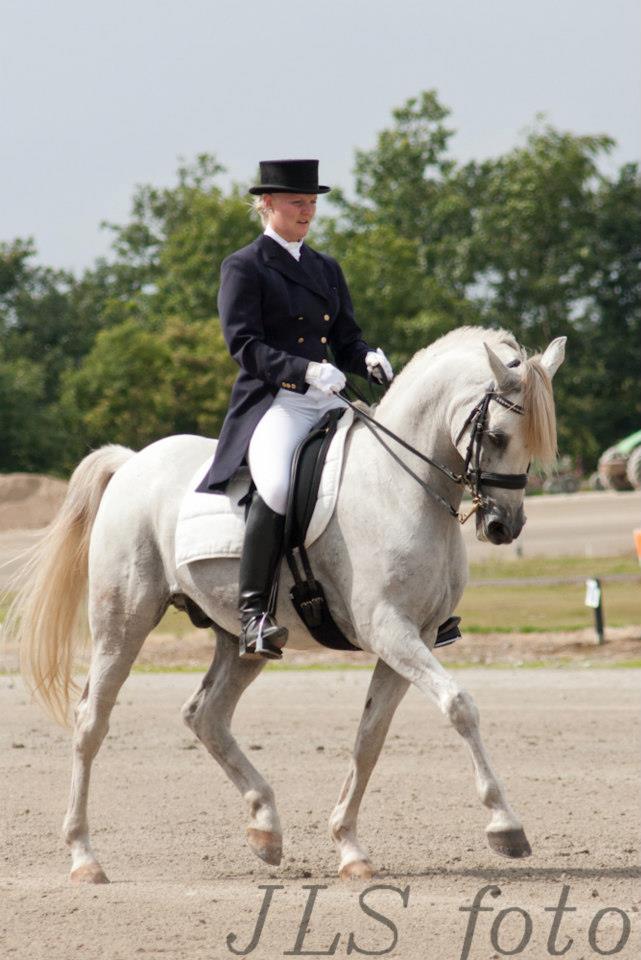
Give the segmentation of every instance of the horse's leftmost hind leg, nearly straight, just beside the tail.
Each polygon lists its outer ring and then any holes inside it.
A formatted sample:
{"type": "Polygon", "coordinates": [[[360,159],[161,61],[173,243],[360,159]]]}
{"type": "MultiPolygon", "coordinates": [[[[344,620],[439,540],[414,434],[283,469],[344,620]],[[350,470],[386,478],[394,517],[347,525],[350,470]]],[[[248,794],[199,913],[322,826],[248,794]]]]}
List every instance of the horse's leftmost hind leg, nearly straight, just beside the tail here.
{"type": "Polygon", "coordinates": [[[62,835],[71,850],[70,879],[74,883],[108,883],[89,838],[87,803],[93,760],[109,730],[109,717],[132,664],[166,601],[157,595],[130,605],[121,597],[94,604],[93,650],[89,676],[74,713],[71,793],[62,835]],[[134,609],[128,616],[125,610],[134,609]]]}

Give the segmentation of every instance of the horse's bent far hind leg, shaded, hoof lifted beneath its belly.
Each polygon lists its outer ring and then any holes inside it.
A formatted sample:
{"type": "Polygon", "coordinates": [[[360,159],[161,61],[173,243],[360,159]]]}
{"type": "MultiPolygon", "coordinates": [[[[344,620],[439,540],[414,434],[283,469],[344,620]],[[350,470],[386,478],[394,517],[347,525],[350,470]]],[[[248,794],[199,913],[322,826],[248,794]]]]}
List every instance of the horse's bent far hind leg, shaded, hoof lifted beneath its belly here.
{"type": "Polygon", "coordinates": [[[182,715],[245,799],[250,814],[249,846],[261,860],[278,865],[283,841],[274,791],[249,762],[230,729],[241,694],[265,662],[241,660],[237,641],[217,630],[212,664],[198,690],[182,708],[182,715]]]}

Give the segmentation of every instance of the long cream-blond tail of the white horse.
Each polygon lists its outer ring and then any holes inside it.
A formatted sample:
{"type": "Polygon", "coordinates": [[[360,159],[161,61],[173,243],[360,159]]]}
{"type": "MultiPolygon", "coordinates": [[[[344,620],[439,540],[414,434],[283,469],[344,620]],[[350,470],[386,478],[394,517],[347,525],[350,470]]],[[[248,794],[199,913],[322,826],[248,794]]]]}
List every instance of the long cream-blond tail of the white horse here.
{"type": "MultiPolygon", "coordinates": [[[[77,690],[74,652],[87,634],[86,597],[91,530],[107,484],[133,450],[109,444],[82,460],[43,539],[26,553],[5,636],[20,648],[27,687],[51,716],[66,725],[77,690]]],[[[11,589],[11,586],[9,589],[11,589]]]]}

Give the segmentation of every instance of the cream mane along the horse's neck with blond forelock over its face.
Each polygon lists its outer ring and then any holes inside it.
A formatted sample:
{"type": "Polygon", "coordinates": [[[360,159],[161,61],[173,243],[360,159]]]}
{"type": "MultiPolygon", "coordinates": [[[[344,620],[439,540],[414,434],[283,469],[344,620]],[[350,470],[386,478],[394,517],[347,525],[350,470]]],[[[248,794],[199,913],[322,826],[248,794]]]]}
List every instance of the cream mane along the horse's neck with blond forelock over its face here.
{"type": "Polygon", "coordinates": [[[523,440],[533,460],[541,464],[550,464],[556,457],[556,413],[552,381],[547,370],[541,364],[541,354],[528,356],[513,334],[507,330],[488,329],[487,327],[457,327],[450,330],[414,354],[407,366],[395,378],[392,388],[398,380],[408,383],[425,375],[425,363],[437,360],[444,353],[463,351],[485,360],[483,344],[486,343],[501,355],[505,363],[518,360],[514,372],[521,380],[523,415],[523,440]],[[505,348],[512,356],[505,355],[505,348]],[[500,349],[503,348],[503,349],[500,349]]]}

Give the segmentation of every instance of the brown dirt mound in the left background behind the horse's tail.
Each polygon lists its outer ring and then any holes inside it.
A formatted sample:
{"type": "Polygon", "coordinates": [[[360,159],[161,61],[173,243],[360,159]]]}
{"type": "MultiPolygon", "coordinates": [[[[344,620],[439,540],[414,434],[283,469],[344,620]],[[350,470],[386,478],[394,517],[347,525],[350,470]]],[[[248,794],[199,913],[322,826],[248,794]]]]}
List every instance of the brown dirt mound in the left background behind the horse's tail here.
{"type": "Polygon", "coordinates": [[[51,523],[67,492],[64,480],[38,473],[0,474],[0,531],[37,530],[51,523]]]}

